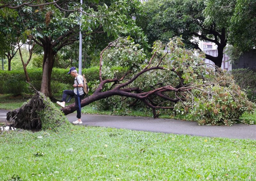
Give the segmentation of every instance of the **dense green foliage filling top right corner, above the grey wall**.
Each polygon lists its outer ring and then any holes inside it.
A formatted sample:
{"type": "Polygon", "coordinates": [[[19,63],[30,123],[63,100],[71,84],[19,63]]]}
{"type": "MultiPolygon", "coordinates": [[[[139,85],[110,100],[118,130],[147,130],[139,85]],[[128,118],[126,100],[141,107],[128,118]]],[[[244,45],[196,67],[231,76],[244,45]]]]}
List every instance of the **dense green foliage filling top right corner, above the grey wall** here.
{"type": "Polygon", "coordinates": [[[255,47],[256,3],[248,0],[207,0],[204,10],[204,24],[210,25],[215,19],[227,31],[228,55],[231,61],[239,59],[243,52],[255,47]]]}

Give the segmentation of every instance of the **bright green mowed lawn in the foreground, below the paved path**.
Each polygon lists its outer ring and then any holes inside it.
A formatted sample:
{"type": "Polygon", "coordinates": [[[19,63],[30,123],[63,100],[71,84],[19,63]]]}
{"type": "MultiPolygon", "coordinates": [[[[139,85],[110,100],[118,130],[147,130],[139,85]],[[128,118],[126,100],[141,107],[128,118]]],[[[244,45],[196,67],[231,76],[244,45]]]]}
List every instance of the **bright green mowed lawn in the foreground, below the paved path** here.
{"type": "Polygon", "coordinates": [[[256,180],[256,140],[71,125],[0,132],[0,180],[256,180]]]}

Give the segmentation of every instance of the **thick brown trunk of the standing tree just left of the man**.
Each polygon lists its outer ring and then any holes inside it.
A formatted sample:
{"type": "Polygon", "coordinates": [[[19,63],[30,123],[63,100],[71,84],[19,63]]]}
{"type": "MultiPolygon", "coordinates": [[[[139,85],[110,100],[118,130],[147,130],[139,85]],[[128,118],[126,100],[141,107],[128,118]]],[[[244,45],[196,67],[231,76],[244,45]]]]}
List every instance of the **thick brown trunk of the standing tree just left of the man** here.
{"type": "Polygon", "coordinates": [[[51,44],[44,45],[43,76],[40,91],[50,98],[52,97],[51,76],[55,54],[56,52],[53,51],[51,44]]]}

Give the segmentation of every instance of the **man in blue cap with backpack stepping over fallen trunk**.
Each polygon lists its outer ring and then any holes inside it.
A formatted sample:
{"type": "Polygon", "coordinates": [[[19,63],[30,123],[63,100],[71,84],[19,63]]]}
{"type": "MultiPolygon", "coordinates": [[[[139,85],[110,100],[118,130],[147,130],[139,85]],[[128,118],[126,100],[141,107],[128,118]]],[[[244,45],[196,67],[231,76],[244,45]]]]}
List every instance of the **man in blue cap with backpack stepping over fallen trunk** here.
{"type": "Polygon", "coordinates": [[[71,67],[69,69],[68,74],[70,74],[72,77],[75,77],[75,81],[74,81],[74,85],[73,87],[75,87],[74,91],[72,90],[64,90],[63,91],[63,95],[62,95],[62,102],[57,101],[56,103],[61,106],[62,108],[65,108],[65,103],[66,103],[66,99],[67,96],[75,96],[75,102],[76,102],[76,117],[77,120],[73,121],[73,124],[82,124],[82,120],[81,120],[81,109],[79,109],[79,105],[78,105],[78,96],[77,96],[77,89],[78,89],[78,93],[79,93],[79,98],[80,98],[80,105],[81,105],[81,101],[84,98],[84,91],[83,91],[83,77],[82,75],[79,75],[76,71],[76,67],[71,67]]]}

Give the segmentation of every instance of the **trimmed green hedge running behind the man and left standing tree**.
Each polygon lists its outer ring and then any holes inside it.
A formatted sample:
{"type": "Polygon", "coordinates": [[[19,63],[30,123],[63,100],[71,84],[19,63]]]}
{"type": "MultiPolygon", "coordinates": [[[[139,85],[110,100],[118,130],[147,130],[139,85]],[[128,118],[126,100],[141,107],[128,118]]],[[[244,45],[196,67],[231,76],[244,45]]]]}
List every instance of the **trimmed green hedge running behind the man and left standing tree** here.
{"type": "MultiPolygon", "coordinates": [[[[120,77],[124,73],[121,67],[113,67],[112,70],[118,70],[120,77]]],[[[53,68],[51,88],[52,93],[61,93],[63,90],[72,88],[74,78],[67,74],[68,69],[53,68]]],[[[42,68],[28,69],[30,82],[37,89],[40,90],[42,81],[42,68]]],[[[99,80],[99,67],[91,67],[82,70],[87,82],[92,84],[99,80]]],[[[23,70],[3,71],[0,70],[0,94],[19,95],[21,93],[31,93],[26,83],[26,77],[23,70]]]]}

